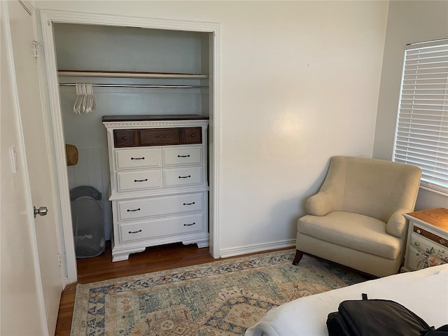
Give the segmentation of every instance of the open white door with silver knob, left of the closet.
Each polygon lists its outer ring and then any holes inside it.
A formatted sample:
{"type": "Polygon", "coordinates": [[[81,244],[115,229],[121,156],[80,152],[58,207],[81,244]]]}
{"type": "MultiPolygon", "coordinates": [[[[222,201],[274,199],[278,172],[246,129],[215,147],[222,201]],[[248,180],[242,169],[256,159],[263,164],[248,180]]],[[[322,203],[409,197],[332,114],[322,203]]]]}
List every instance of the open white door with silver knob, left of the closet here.
{"type": "MultiPolygon", "coordinates": [[[[37,216],[35,219],[31,217],[31,223],[34,220],[35,228],[34,237],[31,238],[36,240],[31,244],[36,244],[37,248],[38,271],[40,271],[38,273],[40,274],[37,273],[36,275],[40,277],[37,282],[40,281],[43,292],[42,300],[45,307],[47,324],[45,328],[48,328],[48,333],[53,335],[57,321],[59,300],[62,293],[62,273],[59,266],[59,244],[55,227],[55,214],[52,211],[52,188],[50,185],[48,152],[45,145],[45,129],[43,125],[38,68],[36,58],[34,57],[34,45],[32,43],[34,41],[34,30],[33,20],[29,13],[29,11],[32,13],[32,10],[31,8],[25,10],[18,1],[7,1],[7,3],[15,80],[18,92],[18,110],[20,113],[18,126],[22,127],[25,144],[26,162],[23,162],[23,169],[25,172],[28,167],[28,174],[25,175],[29,176],[27,190],[31,194],[32,202],[30,202],[32,205],[35,205],[37,208],[48,207],[47,216],[37,216]]],[[[8,127],[8,125],[1,123],[1,127],[1,135],[3,138],[3,127],[8,127]]],[[[3,143],[1,146],[3,155],[3,143]]],[[[20,148],[20,151],[22,151],[22,148],[20,148]]],[[[3,193],[3,188],[1,191],[3,193]]],[[[29,204],[24,204],[24,206],[31,214],[32,207],[29,208],[29,204]]],[[[24,302],[25,304],[26,302],[24,302]]],[[[5,306],[2,304],[2,307],[5,306]]],[[[22,324],[27,324],[24,323],[27,320],[27,316],[22,316],[22,318],[24,318],[22,324]]]]}

